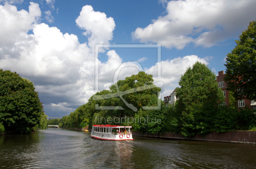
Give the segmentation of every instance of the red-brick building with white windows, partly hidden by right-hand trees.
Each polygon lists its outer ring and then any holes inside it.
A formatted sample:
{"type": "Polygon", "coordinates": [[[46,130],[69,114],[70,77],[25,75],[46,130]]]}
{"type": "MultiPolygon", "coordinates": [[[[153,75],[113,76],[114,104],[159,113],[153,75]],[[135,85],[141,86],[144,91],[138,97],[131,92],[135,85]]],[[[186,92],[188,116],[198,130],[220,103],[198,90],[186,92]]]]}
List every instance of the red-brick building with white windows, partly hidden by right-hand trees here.
{"type": "MultiPolygon", "coordinates": [[[[217,76],[217,82],[219,83],[219,87],[221,88],[224,97],[225,97],[225,102],[223,103],[223,105],[229,105],[229,101],[228,101],[228,94],[229,91],[227,90],[227,83],[224,81],[224,71],[219,71],[219,76],[217,76]]],[[[256,109],[256,102],[254,102],[253,100],[248,100],[248,99],[242,99],[242,100],[237,100],[237,107],[240,108],[244,108],[245,106],[248,106],[252,109],[256,109]]]]}

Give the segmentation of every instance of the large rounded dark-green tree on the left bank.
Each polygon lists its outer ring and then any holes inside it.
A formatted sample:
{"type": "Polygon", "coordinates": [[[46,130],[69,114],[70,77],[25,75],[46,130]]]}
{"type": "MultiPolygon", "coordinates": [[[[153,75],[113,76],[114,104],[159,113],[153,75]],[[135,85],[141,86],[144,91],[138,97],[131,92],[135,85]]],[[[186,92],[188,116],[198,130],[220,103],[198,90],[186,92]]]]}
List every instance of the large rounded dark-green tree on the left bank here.
{"type": "Polygon", "coordinates": [[[16,72],[0,70],[0,122],[5,130],[29,131],[43,114],[33,83],[16,72]]]}

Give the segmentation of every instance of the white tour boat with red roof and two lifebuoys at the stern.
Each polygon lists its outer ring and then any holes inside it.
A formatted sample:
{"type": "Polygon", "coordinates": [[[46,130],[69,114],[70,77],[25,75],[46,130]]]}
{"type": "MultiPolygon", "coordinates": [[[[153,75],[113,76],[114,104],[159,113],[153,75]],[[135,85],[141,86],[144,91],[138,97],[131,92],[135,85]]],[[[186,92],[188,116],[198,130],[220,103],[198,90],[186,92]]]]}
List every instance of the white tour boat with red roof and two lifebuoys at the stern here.
{"type": "Polygon", "coordinates": [[[100,140],[134,140],[130,128],[132,126],[93,125],[91,137],[100,140]]]}

